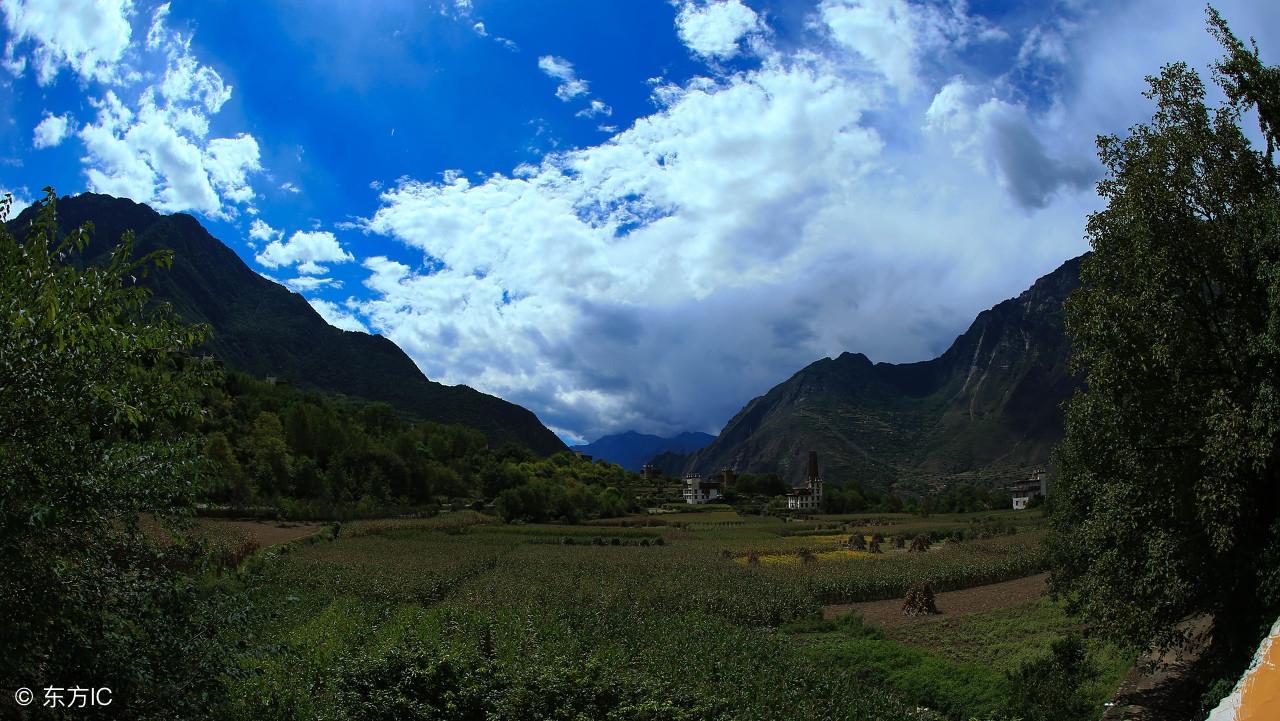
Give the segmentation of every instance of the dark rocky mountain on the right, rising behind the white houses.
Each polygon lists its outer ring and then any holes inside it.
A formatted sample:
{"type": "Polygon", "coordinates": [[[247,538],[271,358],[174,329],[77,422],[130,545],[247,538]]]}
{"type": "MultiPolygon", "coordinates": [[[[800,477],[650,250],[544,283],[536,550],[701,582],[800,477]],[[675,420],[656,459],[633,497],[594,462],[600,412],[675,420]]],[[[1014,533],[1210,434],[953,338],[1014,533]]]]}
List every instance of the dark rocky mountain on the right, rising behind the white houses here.
{"type": "Polygon", "coordinates": [[[873,364],[846,352],[804,368],[750,401],[685,470],[799,482],[813,450],[836,484],[922,490],[1021,478],[1062,437],[1075,388],[1062,302],[1080,284],[1080,260],[980,312],[933,360],[873,364]]]}

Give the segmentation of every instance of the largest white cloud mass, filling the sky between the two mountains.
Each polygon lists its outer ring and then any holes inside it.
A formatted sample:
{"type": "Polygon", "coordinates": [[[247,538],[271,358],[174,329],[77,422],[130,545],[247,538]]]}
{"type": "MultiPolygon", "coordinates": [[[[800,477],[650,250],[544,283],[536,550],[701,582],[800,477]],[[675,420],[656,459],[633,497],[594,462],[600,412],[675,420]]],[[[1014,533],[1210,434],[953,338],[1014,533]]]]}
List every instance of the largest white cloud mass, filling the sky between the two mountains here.
{"type": "MultiPolygon", "coordinates": [[[[886,145],[882,93],[845,67],[659,81],[659,111],[602,145],[402,181],[369,229],[439,263],[366,259],[361,315],[431,378],[553,428],[716,430],[823,355],[929,357],[1082,250],[1091,193],[1028,213],[943,138],[886,145]]],[[[895,132],[925,122],[927,105],[892,110],[895,132]]]]}

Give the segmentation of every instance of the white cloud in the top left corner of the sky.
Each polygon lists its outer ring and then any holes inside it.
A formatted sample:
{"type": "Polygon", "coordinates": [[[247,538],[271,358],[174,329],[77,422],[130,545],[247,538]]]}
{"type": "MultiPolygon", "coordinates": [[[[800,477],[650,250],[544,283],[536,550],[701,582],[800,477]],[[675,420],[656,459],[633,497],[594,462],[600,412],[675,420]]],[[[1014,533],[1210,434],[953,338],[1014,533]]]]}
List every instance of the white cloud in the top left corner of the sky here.
{"type": "Polygon", "coordinates": [[[119,65],[129,46],[133,13],[131,0],[5,0],[3,4],[9,42],[5,65],[20,74],[27,65],[19,56],[32,45],[31,61],[40,85],[49,85],[63,68],[81,81],[120,82],[125,73],[119,65]]]}

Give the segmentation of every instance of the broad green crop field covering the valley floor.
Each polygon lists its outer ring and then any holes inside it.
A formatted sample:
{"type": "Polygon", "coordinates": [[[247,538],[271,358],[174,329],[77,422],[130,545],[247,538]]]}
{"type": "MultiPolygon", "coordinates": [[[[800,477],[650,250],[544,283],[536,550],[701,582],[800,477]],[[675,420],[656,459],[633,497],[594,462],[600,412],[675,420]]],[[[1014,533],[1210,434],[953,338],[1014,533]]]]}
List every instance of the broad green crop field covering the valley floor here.
{"type": "MultiPolygon", "coordinates": [[[[899,598],[925,580],[947,589],[1036,574],[1042,531],[870,555],[840,551],[847,535],[836,533],[838,520],[714,517],[705,526],[507,525],[458,512],[356,521],[337,539],[325,533],[265,551],[242,574],[256,640],[234,681],[238,711],[522,718],[516,709],[538,697],[584,718],[1001,717],[995,702],[938,699],[841,661],[849,649],[820,612],[832,602],[899,598]],[[827,533],[797,535],[822,526],[827,533]],[[763,549],[796,562],[745,562],[763,549]],[[818,633],[803,630],[815,624],[818,633]],[[426,708],[421,699],[431,694],[421,684],[454,690],[426,708]]],[[[1042,624],[1044,638],[1068,630],[1053,624],[1042,624]]],[[[1047,648],[1036,638],[1018,658],[1047,648]]],[[[927,636],[876,643],[951,666],[1006,654],[992,645],[948,656],[927,636]]]]}

